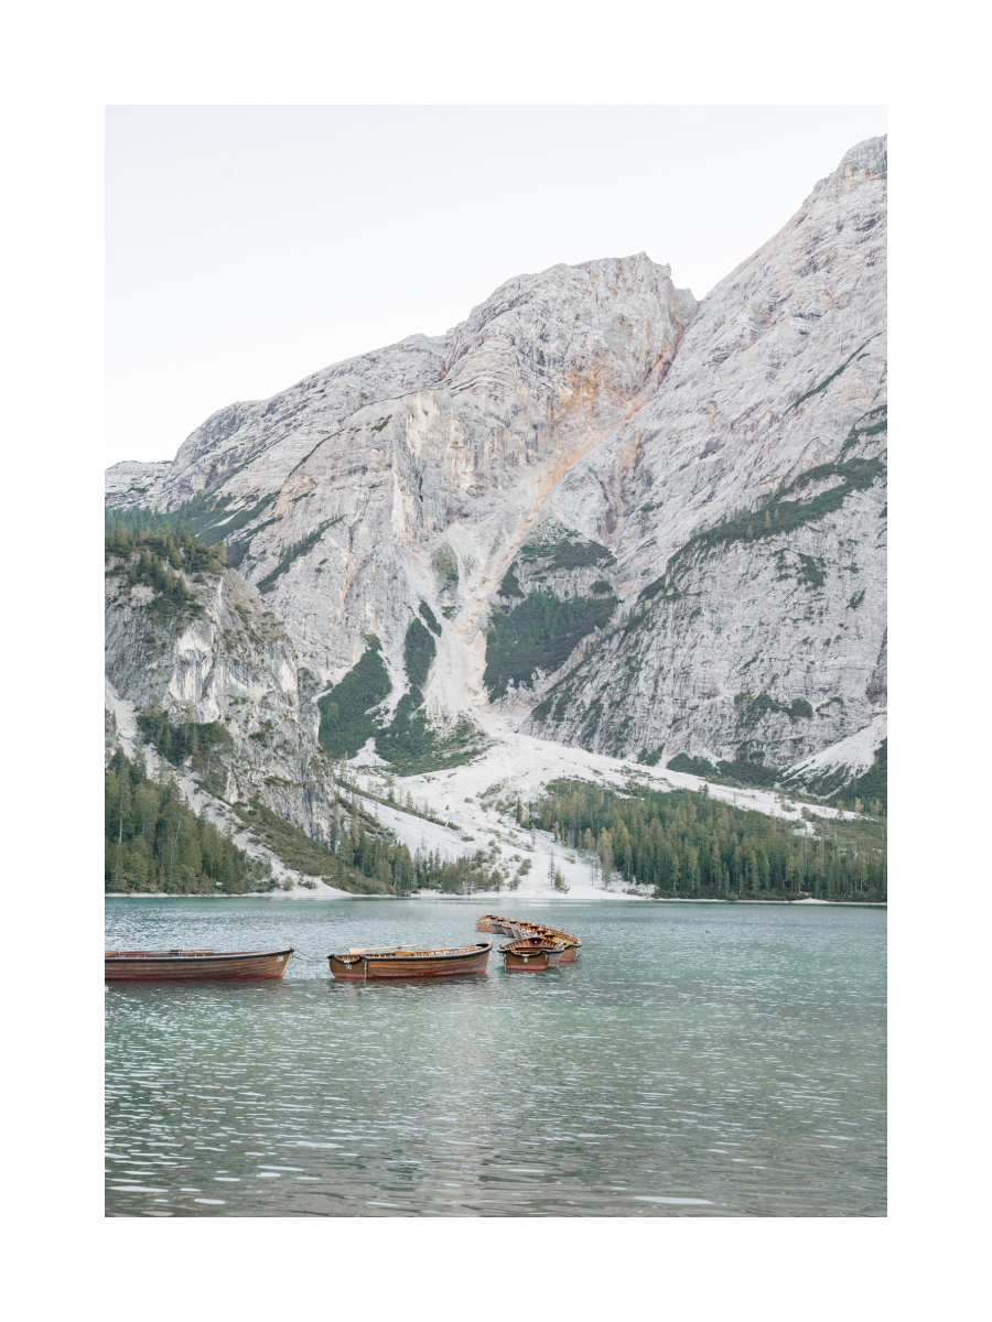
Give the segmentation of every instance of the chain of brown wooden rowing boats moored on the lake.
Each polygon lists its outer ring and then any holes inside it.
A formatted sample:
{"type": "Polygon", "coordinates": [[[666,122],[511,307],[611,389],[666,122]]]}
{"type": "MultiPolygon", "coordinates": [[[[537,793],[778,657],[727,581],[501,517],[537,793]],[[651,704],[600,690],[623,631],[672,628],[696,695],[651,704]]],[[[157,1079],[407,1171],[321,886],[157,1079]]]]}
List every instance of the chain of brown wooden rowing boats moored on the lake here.
{"type": "MultiPolygon", "coordinates": [[[[479,932],[513,937],[501,945],[503,966],[509,973],[540,973],[558,964],[571,964],[582,941],[541,923],[485,914],[479,932]]],[[[279,951],[104,951],[104,978],[149,982],[161,980],[280,978],[290,966],[295,947],[279,951]]],[[[492,941],[425,949],[418,945],[353,947],[345,954],[328,954],[336,978],[442,978],[462,973],[485,973],[492,941]]]]}

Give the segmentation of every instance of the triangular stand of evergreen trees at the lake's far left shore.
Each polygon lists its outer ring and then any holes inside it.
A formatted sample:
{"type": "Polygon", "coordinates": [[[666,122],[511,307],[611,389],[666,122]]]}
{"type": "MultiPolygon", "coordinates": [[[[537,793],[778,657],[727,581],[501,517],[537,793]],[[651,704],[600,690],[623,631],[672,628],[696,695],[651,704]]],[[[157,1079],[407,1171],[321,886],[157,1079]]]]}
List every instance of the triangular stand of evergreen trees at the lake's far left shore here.
{"type": "Polygon", "coordinates": [[[108,891],[243,895],[271,890],[267,863],[250,859],[186,804],[171,772],[151,780],[139,755],[111,760],[104,781],[104,876],[108,891]]]}

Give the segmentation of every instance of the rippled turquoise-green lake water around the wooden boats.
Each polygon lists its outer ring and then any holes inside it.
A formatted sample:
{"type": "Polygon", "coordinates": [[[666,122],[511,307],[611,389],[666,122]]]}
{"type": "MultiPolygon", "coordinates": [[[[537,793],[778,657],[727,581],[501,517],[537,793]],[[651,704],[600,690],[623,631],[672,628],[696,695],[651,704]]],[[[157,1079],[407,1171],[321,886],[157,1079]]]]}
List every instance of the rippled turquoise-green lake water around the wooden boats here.
{"type": "Polygon", "coordinates": [[[107,947],[284,980],[107,984],[112,1216],[885,1215],[884,910],[536,903],[574,965],[337,982],[489,940],[477,899],[108,899],[107,947]]]}

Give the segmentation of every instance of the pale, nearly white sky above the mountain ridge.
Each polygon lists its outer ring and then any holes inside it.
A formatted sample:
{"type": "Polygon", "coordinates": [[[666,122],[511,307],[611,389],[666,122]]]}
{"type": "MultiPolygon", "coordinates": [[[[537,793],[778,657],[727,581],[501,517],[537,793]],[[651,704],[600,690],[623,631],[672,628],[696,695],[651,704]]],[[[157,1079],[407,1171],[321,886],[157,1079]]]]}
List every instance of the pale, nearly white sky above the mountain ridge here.
{"type": "Polygon", "coordinates": [[[107,463],[558,262],[702,297],[882,106],[107,110],[107,463]]]}

